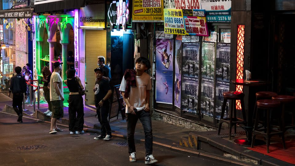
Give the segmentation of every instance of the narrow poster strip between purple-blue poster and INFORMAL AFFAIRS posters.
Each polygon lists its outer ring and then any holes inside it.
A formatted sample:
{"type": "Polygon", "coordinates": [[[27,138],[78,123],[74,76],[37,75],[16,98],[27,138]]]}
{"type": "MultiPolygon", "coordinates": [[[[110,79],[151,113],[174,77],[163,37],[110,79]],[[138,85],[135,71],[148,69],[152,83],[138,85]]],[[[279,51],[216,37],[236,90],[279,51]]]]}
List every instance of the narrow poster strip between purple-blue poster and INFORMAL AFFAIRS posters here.
{"type": "Polygon", "coordinates": [[[182,69],[182,42],[181,40],[175,41],[175,99],[174,105],[180,109],[181,106],[181,69],[182,69]]]}

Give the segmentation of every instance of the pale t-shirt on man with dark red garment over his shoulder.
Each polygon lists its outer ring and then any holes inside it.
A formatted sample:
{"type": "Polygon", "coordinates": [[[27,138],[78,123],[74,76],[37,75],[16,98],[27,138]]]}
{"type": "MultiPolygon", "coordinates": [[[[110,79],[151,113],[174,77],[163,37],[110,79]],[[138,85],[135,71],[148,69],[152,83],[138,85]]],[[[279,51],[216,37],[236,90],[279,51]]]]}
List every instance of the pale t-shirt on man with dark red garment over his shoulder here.
{"type": "MultiPolygon", "coordinates": [[[[125,92],[125,88],[126,81],[123,77],[119,90],[125,92]]],[[[137,111],[144,109],[146,90],[151,90],[151,77],[147,73],[143,73],[141,76],[136,76],[136,87],[131,87],[128,98],[130,105],[134,106],[137,111]]],[[[129,113],[127,106],[125,112],[129,113]]]]}

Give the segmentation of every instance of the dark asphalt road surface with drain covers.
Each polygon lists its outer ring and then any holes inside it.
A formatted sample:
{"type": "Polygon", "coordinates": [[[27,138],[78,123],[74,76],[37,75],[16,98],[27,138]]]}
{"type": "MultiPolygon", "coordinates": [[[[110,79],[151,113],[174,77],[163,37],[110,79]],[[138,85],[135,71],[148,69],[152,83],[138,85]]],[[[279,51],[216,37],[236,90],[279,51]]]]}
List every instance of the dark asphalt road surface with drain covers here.
{"type": "MultiPolygon", "coordinates": [[[[144,144],[136,144],[136,163],[129,162],[126,140],[94,140],[94,133],[70,135],[67,128],[49,134],[50,124],[0,113],[0,165],[145,165],[144,144]],[[36,149],[32,149],[34,147],[36,149]]],[[[214,161],[188,156],[155,147],[155,165],[222,165],[214,161]]]]}

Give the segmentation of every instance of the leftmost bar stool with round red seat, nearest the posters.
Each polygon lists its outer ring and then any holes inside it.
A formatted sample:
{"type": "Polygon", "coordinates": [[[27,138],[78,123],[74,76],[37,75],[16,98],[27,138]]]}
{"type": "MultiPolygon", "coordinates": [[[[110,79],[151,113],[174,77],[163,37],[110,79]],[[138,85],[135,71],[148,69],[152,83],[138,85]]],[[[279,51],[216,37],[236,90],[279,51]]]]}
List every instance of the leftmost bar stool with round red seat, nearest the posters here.
{"type": "Polygon", "coordinates": [[[227,123],[228,127],[230,128],[229,138],[231,139],[231,128],[234,126],[234,133],[236,133],[237,132],[236,124],[240,122],[246,122],[246,112],[245,112],[245,106],[244,106],[245,94],[241,92],[237,92],[237,91],[229,91],[229,92],[224,92],[222,95],[223,95],[223,103],[221,108],[221,117],[219,121],[218,135],[220,134],[222,123],[227,123]],[[230,118],[223,118],[227,100],[231,100],[230,118]],[[236,100],[241,101],[243,119],[239,119],[236,117],[236,111],[237,111],[236,100]],[[234,113],[234,117],[233,117],[233,113],[234,113]]]}

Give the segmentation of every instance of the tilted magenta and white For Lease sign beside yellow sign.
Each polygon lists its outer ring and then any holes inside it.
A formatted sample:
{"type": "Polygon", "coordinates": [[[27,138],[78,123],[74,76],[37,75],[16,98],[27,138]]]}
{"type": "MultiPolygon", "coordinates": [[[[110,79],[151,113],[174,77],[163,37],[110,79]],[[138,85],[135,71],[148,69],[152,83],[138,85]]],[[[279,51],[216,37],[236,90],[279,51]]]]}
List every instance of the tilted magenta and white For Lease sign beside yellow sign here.
{"type": "Polygon", "coordinates": [[[209,36],[205,10],[183,9],[186,33],[190,35],[209,36]]]}

